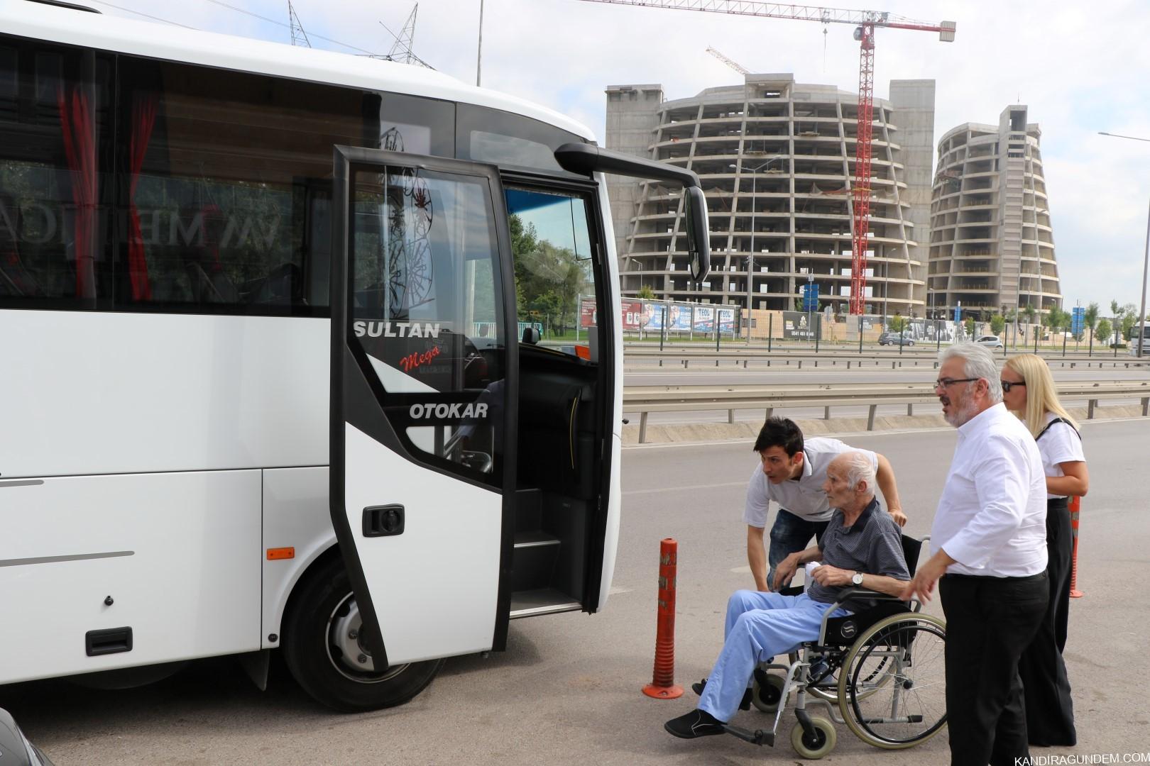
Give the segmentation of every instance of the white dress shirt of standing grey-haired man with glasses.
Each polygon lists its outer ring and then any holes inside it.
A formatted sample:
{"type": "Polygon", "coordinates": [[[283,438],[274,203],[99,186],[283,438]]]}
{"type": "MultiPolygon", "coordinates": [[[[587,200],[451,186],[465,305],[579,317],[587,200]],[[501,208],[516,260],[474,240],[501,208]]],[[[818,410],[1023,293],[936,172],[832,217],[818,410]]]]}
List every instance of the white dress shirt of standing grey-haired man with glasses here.
{"type": "Polygon", "coordinates": [[[1034,436],[999,403],[958,428],[933,544],[950,574],[1017,578],[1046,568],[1046,478],[1034,436]]]}

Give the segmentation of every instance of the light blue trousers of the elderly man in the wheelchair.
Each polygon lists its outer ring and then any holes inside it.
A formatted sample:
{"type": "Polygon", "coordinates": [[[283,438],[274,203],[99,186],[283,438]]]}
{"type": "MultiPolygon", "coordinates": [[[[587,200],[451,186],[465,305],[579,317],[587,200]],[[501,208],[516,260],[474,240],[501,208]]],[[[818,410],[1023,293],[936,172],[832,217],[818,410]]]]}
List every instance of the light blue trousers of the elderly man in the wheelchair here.
{"type": "MultiPolygon", "coordinates": [[[[736,590],[727,601],[726,640],[699,707],[720,721],[734,718],[754,666],[797,649],[804,641],[818,641],[822,616],[833,605],[812,601],[806,594],[736,590]]],[[[849,613],[838,609],[834,617],[849,613]]]]}

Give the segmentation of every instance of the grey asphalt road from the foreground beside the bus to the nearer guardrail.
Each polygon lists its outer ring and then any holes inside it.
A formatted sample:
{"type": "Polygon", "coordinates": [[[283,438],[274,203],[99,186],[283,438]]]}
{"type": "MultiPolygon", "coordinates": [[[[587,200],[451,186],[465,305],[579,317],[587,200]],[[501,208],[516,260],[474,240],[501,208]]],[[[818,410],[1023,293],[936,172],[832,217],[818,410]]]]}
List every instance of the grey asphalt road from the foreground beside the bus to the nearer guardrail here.
{"type": "MultiPolygon", "coordinates": [[[[1079,554],[1079,587],[1086,596],[1072,602],[1066,650],[1080,744],[1036,749],[1035,755],[1150,753],[1150,659],[1143,651],[1150,635],[1144,480],[1150,427],[1144,419],[1091,423],[1083,435],[1091,474],[1079,554]]],[[[927,533],[953,431],[848,441],[891,459],[908,529],[927,533]]],[[[662,722],[692,707],[691,693],[654,701],[639,691],[652,666],[662,537],[678,541],[676,679],[687,686],[707,674],[721,645],[727,595],[751,583],[741,509],[753,465],[745,443],[626,449],[615,593],[605,611],[514,621],[506,652],[447,660],[422,695],[398,709],[331,713],[300,691],[282,666],[273,666],[270,688],[261,693],[228,659],[194,663],[167,681],[123,691],[59,680],[0,688],[0,706],[60,766],[795,764],[784,738],[793,722],[789,713],[774,749],[729,736],[685,742],[667,735],[662,722]]],[[[766,718],[752,710],[736,721],[759,727],[766,718]]],[[[837,729],[838,746],[828,764],[949,760],[945,732],[917,749],[880,751],[844,726],[837,729]]]]}

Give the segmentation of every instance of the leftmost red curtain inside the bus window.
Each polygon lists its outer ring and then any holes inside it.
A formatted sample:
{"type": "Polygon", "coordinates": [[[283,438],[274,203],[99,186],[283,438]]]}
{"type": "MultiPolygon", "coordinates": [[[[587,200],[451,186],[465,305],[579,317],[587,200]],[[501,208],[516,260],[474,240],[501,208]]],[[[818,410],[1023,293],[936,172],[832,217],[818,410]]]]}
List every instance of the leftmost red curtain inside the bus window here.
{"type": "Polygon", "coordinates": [[[64,155],[76,204],[76,297],[95,297],[95,134],[87,95],[79,87],[56,94],[64,155]]]}

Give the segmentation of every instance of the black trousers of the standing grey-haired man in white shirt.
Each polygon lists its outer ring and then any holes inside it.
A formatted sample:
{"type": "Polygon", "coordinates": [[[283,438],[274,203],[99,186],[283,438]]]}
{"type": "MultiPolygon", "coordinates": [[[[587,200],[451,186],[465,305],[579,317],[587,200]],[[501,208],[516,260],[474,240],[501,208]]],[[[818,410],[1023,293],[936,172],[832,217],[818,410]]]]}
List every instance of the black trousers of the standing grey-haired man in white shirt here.
{"type": "Polygon", "coordinates": [[[1046,573],[946,574],[946,721],[951,766],[1014,766],[1030,755],[1018,658],[1046,612],[1046,573]]]}

